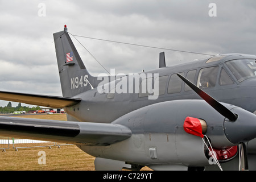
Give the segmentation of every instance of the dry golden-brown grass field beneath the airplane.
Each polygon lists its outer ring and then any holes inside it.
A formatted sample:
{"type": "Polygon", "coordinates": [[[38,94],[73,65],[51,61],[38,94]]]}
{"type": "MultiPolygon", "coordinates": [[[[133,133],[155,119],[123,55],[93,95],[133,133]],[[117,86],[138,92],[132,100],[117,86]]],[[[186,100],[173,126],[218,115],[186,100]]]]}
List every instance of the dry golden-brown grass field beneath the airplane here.
{"type": "MultiPolygon", "coordinates": [[[[67,120],[65,114],[35,114],[15,117],[67,120]]],[[[18,147],[23,147],[24,145],[38,146],[38,144],[19,144],[18,147]]],[[[61,146],[61,148],[54,146],[51,148],[19,148],[18,151],[15,151],[13,145],[10,144],[10,148],[6,149],[6,152],[0,151],[0,171],[94,171],[95,158],[81,151],[77,146],[69,145],[61,146]],[[46,164],[38,163],[40,158],[39,151],[46,152],[46,164]]],[[[149,170],[149,168],[144,167],[143,170],[149,170]]]]}

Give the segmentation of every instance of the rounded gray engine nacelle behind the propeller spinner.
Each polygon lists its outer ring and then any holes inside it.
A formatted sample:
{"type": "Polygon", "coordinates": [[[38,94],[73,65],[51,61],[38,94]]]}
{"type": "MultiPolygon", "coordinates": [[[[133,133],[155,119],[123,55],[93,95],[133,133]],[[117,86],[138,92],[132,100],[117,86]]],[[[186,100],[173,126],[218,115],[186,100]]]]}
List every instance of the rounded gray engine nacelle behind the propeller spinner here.
{"type": "Polygon", "coordinates": [[[132,111],[113,123],[129,127],[133,135],[144,135],[148,163],[209,165],[210,156],[201,137],[184,131],[188,116],[206,121],[205,134],[214,148],[234,146],[224,133],[225,118],[203,100],[160,102],[132,111]]]}

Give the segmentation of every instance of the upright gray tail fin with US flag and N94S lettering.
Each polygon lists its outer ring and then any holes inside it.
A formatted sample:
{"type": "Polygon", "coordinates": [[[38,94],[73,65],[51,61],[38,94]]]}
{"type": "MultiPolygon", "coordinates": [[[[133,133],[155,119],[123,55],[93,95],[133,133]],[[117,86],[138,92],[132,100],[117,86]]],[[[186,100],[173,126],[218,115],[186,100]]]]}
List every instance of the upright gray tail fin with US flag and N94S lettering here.
{"type": "Polygon", "coordinates": [[[67,30],[53,34],[57,63],[60,74],[61,89],[64,97],[73,97],[92,89],[94,77],[82,63],[67,30]]]}

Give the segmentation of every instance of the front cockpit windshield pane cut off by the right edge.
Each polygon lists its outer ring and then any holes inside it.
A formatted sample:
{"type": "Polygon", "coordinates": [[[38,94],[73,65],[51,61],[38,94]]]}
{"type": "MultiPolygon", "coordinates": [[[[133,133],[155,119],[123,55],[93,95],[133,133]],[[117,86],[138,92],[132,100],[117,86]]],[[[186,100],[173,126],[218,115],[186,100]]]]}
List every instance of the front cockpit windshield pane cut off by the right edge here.
{"type": "Polygon", "coordinates": [[[238,59],[227,61],[226,65],[239,82],[251,77],[256,77],[255,59],[238,59]]]}

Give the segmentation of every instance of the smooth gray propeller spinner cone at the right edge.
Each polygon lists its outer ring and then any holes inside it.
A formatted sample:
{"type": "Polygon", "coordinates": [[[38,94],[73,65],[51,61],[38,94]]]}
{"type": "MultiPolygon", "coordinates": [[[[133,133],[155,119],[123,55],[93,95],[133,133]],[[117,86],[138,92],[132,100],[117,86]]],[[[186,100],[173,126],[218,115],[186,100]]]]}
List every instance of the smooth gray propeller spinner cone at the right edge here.
{"type": "Polygon", "coordinates": [[[226,138],[233,144],[256,138],[256,115],[241,107],[234,107],[232,112],[238,117],[236,121],[224,122],[226,138]]]}

